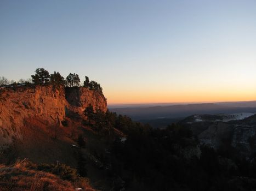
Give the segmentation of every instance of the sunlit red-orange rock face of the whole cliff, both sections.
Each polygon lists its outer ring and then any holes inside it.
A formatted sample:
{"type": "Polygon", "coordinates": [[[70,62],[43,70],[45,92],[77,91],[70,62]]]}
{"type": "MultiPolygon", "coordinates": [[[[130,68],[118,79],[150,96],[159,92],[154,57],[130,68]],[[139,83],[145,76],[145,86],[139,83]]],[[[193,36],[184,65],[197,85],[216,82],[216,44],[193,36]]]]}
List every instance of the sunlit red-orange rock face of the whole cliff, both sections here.
{"type": "Polygon", "coordinates": [[[84,87],[0,88],[0,152],[21,139],[31,121],[40,121],[45,127],[59,127],[66,114],[82,114],[89,104],[94,109],[107,110],[103,94],[84,87]]]}

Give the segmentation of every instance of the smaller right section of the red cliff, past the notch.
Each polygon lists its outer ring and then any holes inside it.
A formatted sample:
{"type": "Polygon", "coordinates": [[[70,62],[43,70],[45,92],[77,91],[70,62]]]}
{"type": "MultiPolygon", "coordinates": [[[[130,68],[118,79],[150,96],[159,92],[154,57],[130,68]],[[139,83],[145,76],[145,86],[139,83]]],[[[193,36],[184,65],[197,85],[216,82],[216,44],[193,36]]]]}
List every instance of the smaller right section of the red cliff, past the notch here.
{"type": "Polygon", "coordinates": [[[86,87],[65,88],[65,98],[67,114],[75,113],[82,115],[89,104],[95,110],[100,109],[104,112],[107,110],[107,102],[104,95],[86,87]]]}

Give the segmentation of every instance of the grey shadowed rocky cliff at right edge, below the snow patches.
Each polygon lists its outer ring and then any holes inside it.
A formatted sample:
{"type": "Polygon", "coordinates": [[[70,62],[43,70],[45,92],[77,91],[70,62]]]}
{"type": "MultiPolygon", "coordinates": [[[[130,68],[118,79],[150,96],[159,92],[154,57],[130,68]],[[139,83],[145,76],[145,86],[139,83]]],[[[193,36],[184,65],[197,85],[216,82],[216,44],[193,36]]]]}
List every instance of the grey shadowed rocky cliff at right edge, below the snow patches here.
{"type": "Polygon", "coordinates": [[[253,113],[232,114],[231,120],[223,114],[194,115],[180,123],[189,127],[201,144],[216,149],[232,148],[246,158],[256,154],[256,115],[253,113]]]}

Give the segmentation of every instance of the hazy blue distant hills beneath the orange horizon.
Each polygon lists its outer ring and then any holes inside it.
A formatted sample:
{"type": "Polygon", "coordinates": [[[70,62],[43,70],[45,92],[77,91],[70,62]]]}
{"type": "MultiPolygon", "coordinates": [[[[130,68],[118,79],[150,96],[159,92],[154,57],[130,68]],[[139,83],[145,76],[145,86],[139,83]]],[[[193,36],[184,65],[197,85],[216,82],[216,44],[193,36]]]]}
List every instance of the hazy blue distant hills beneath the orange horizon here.
{"type": "Polygon", "coordinates": [[[153,127],[164,127],[194,114],[234,114],[241,112],[256,112],[256,101],[253,102],[223,102],[201,104],[179,104],[158,106],[130,106],[126,108],[111,108],[110,111],[127,115],[135,121],[149,123],[153,127]]]}

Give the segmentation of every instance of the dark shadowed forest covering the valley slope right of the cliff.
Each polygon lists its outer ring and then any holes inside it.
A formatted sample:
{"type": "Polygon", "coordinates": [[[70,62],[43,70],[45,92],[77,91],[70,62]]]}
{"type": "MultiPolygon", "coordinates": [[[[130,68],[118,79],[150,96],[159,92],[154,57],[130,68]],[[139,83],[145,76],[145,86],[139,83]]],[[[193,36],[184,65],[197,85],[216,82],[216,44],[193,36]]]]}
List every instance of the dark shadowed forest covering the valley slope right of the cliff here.
{"type": "MultiPolygon", "coordinates": [[[[231,144],[214,149],[200,145],[187,127],[153,129],[127,116],[99,113],[92,106],[84,114],[87,125],[101,135],[107,129],[126,135],[124,141],[115,138],[110,156],[102,157],[111,164],[110,175],[120,177],[126,190],[256,190],[255,158],[241,157],[231,144]]],[[[122,187],[115,182],[113,190],[122,187]]]]}

